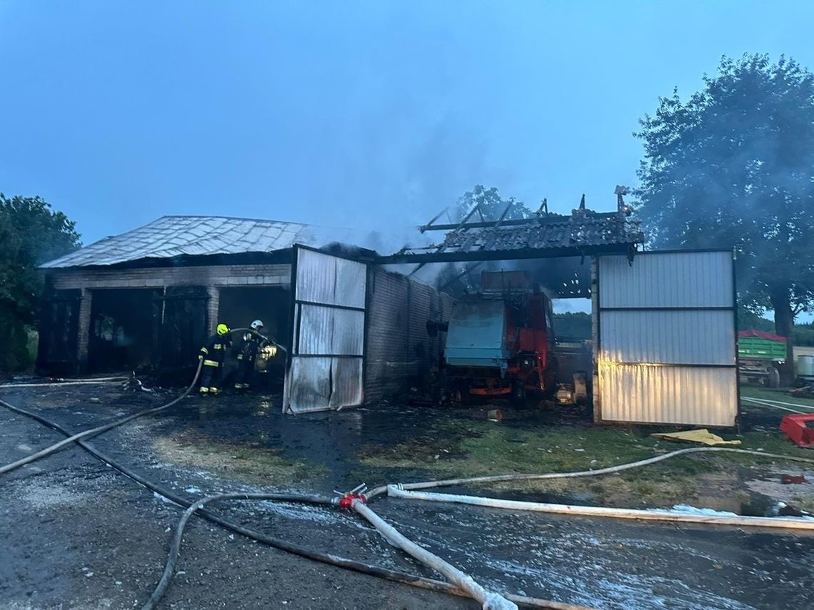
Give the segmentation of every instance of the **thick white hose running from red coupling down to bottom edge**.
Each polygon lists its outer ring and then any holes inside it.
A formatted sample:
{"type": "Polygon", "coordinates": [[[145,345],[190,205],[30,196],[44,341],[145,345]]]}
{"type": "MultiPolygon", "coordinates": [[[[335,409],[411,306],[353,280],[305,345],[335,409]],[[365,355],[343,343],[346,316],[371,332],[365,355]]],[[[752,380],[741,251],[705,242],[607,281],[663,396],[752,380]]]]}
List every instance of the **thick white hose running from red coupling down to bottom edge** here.
{"type": "Polygon", "coordinates": [[[480,586],[472,577],[467,576],[461,570],[457,569],[453,564],[442,560],[439,556],[433,555],[424,547],[418,546],[408,538],[405,538],[396,528],[387,524],[379,515],[370,510],[365,504],[364,500],[353,499],[351,500],[351,508],[359,513],[367,520],[370,525],[382,534],[389,542],[405,551],[409,556],[414,557],[422,564],[427,565],[436,572],[444,574],[444,577],[449,579],[453,585],[458,586],[461,590],[466,591],[472,599],[475,599],[481,604],[483,610],[517,610],[517,604],[505,599],[502,595],[488,591],[480,586]]]}

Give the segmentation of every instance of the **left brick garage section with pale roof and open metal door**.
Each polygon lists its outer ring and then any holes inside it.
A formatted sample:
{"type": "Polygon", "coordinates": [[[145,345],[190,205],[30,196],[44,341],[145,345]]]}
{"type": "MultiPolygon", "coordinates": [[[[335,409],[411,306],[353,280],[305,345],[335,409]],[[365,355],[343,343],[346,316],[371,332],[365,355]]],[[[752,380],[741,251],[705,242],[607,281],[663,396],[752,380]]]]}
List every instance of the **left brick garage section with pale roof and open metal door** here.
{"type": "MultiPolygon", "coordinates": [[[[164,216],[42,266],[43,373],[147,369],[186,382],[219,322],[265,322],[291,412],[352,406],[431,364],[431,287],[340,246],[349,232],[273,220],[164,216]],[[321,250],[317,250],[320,248],[321,250]]],[[[228,375],[229,370],[225,373],[228,375]]]]}

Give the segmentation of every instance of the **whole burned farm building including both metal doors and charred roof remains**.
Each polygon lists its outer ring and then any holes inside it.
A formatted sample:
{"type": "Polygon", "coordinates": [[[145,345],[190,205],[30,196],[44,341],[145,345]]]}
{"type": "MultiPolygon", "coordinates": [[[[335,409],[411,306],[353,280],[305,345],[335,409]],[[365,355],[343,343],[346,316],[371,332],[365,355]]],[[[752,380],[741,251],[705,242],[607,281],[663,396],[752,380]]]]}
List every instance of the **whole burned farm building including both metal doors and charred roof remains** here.
{"type": "MultiPolygon", "coordinates": [[[[427,323],[443,328],[454,299],[389,266],[526,261],[555,298],[589,299],[597,422],[737,423],[731,251],[641,251],[620,195],[613,212],[469,220],[422,227],[443,232],[435,246],[379,255],[303,224],[165,216],[43,265],[38,366],[186,382],[218,322],[260,318],[286,350],[269,376],[284,410],[352,407],[405,390],[444,346],[427,323]]],[[[561,356],[568,374],[582,366],[568,362],[578,351],[561,356]]]]}

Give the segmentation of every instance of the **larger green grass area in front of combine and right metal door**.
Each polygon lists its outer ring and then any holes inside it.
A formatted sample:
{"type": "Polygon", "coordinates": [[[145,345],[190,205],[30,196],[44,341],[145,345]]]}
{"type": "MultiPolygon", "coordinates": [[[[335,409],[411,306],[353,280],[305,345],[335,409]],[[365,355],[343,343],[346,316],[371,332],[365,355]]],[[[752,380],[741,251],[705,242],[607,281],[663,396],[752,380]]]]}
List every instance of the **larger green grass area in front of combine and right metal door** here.
{"type": "MultiPolygon", "coordinates": [[[[368,446],[358,455],[361,480],[416,481],[504,473],[562,473],[597,470],[642,460],[693,445],[653,438],[654,429],[558,426],[519,429],[486,421],[440,425],[433,440],[410,439],[393,447],[368,446]]],[[[724,438],[736,438],[722,434],[724,438]]],[[[775,430],[740,437],[743,449],[814,458],[775,430]]],[[[736,453],[686,455],[601,477],[510,481],[479,490],[549,495],[553,501],[584,496],[584,501],[638,508],[724,500],[743,494],[751,469],[778,462],[736,453]],[[558,497],[562,498],[558,498],[558,497]]],[[[581,502],[580,502],[581,503],[581,502]]]]}

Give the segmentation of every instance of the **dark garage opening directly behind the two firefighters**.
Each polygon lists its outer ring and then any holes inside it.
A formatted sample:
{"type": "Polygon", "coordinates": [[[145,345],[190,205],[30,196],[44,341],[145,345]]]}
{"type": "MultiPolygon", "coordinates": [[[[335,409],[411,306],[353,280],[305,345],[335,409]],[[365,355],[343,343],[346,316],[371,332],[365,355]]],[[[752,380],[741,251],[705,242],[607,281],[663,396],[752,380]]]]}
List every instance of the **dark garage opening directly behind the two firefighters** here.
{"type": "MultiPolygon", "coordinates": [[[[228,325],[230,329],[245,328],[252,320],[262,320],[262,333],[274,342],[287,346],[291,337],[291,290],[283,286],[253,286],[239,288],[221,288],[218,307],[218,322],[228,325]]],[[[237,371],[237,354],[241,344],[241,335],[233,335],[234,345],[227,354],[224,367],[224,386],[234,384],[237,371]]],[[[255,363],[256,374],[252,382],[254,387],[282,391],[285,377],[286,354],[278,350],[274,355],[268,352],[261,354],[255,363]]]]}

